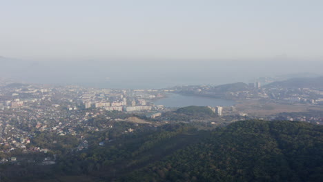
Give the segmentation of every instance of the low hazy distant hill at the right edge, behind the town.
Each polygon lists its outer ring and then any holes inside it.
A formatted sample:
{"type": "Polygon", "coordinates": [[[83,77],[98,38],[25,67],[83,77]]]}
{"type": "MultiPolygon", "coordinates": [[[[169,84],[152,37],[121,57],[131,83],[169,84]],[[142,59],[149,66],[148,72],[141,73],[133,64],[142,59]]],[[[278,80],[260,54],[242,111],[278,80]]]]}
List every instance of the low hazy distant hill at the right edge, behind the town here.
{"type": "Polygon", "coordinates": [[[286,81],[276,81],[265,85],[266,88],[283,87],[283,88],[323,88],[323,77],[315,78],[294,78],[286,81]]]}

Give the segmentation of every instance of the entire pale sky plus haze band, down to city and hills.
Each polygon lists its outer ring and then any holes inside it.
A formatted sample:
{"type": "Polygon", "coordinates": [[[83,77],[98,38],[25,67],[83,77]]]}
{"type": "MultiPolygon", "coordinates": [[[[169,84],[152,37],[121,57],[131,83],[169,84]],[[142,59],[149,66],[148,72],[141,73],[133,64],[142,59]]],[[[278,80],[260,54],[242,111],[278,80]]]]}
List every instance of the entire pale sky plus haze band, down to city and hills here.
{"type": "Polygon", "coordinates": [[[4,1],[0,77],[164,88],[322,75],[322,1],[4,1]]]}

